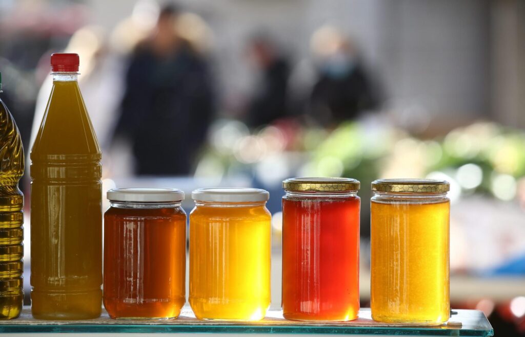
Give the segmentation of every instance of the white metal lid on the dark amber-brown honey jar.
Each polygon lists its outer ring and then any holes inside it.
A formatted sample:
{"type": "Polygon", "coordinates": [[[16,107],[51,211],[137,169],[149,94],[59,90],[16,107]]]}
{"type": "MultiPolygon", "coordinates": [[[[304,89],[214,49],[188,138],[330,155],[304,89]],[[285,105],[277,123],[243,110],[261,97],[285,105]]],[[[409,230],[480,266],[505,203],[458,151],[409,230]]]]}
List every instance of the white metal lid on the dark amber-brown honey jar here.
{"type": "Polygon", "coordinates": [[[108,190],[108,199],[137,203],[170,203],[184,200],[184,192],[176,188],[113,188],[108,190]]]}

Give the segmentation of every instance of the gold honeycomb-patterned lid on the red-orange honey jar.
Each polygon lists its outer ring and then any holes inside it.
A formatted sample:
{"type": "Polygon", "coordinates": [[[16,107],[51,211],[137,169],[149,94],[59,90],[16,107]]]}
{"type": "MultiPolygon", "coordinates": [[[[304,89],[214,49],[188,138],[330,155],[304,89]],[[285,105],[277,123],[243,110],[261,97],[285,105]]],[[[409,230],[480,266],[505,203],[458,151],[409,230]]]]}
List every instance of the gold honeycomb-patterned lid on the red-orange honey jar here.
{"type": "Polygon", "coordinates": [[[290,192],[352,192],[360,182],[351,178],[289,178],[282,188],[290,192]]]}

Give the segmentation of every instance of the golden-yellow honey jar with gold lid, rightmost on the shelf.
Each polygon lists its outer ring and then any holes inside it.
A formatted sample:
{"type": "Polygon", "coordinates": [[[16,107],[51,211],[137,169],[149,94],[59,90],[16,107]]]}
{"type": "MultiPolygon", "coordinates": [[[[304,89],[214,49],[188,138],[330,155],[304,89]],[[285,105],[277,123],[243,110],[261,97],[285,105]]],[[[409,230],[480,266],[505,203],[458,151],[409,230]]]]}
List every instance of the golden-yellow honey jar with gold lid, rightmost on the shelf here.
{"type": "Polygon", "coordinates": [[[386,323],[437,325],[450,315],[449,183],[372,183],[371,310],[386,323]]]}

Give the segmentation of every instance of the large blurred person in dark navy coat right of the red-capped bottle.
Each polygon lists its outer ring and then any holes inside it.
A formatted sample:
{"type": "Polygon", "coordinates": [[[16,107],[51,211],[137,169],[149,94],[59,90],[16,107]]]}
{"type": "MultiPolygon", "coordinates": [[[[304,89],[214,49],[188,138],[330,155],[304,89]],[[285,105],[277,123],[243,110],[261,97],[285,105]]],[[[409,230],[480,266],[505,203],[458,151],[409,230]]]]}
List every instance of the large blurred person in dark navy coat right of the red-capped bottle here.
{"type": "Polygon", "coordinates": [[[187,175],[214,113],[212,79],[195,43],[181,35],[174,5],[160,11],[125,76],[114,139],[131,143],[138,175],[187,175]]]}

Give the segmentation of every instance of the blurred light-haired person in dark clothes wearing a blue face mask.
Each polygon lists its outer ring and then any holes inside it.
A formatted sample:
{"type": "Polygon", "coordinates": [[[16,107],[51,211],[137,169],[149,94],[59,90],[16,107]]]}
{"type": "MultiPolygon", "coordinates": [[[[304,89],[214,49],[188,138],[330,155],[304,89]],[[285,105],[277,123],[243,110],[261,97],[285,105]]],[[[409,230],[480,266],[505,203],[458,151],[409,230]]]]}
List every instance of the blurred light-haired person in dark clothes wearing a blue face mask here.
{"type": "Polygon", "coordinates": [[[308,108],[314,120],[330,127],[377,107],[377,93],[348,37],[324,26],[314,32],[311,47],[318,59],[318,79],[308,108]]]}

